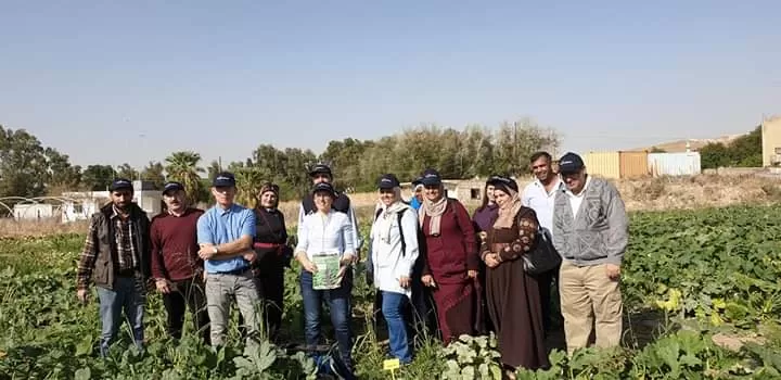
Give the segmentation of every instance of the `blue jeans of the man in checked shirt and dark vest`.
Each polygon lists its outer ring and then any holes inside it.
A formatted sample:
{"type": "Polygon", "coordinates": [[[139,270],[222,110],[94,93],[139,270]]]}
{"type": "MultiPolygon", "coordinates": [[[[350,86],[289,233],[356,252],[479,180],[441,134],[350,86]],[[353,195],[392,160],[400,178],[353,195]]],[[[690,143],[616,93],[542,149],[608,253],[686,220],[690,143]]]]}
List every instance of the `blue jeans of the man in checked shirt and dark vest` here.
{"type": "Polygon", "coordinates": [[[117,331],[124,318],[121,312],[132,330],[133,342],[139,349],[143,349],[143,315],[145,294],[143,286],[133,277],[117,277],[114,281],[114,289],[108,290],[98,287],[100,299],[101,317],[101,356],[106,356],[108,346],[116,338],[117,331]]]}

